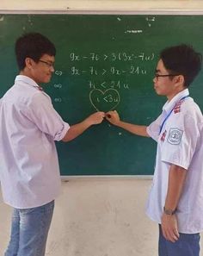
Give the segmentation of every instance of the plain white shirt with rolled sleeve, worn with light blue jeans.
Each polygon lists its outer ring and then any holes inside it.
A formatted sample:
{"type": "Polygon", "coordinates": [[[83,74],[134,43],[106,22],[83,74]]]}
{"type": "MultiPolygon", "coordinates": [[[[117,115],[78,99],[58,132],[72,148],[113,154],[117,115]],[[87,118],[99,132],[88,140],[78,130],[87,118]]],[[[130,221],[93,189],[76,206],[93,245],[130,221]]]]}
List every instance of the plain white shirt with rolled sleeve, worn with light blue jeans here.
{"type": "Polygon", "coordinates": [[[0,100],[3,201],[25,209],[51,202],[60,190],[54,140],[70,128],[33,79],[19,75],[0,100]]]}

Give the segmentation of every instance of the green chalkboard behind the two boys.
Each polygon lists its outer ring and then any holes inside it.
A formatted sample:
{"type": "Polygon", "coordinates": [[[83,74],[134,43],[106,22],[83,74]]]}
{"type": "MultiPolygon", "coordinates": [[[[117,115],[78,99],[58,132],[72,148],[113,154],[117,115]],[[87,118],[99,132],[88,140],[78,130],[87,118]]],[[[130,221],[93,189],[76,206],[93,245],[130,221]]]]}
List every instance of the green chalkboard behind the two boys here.
{"type": "MultiPolygon", "coordinates": [[[[45,90],[66,122],[80,122],[96,110],[116,109],[124,121],[148,125],[165,102],[153,90],[158,53],[179,43],[192,44],[203,53],[202,29],[203,16],[2,14],[0,97],[18,73],[16,38],[35,31],[57,47],[55,73],[45,90]]],[[[190,89],[201,109],[202,83],[201,73],[190,89]]],[[[153,174],[156,143],[106,121],[57,147],[65,176],[153,174]]]]}

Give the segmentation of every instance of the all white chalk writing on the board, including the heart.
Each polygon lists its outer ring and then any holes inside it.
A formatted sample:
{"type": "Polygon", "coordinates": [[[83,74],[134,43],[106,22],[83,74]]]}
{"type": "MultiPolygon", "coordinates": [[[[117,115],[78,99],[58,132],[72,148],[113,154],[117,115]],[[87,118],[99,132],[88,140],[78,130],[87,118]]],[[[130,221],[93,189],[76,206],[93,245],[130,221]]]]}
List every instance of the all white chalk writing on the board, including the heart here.
{"type": "MultiPolygon", "coordinates": [[[[147,20],[151,22],[151,20],[147,20]]],[[[127,33],[135,33],[129,30],[127,33]]],[[[137,31],[136,33],[141,33],[137,31]]],[[[110,53],[69,53],[68,69],[56,69],[57,83],[53,84],[56,90],[61,90],[63,84],[60,77],[65,73],[72,78],[87,77],[87,90],[89,90],[89,103],[97,110],[109,111],[115,109],[120,103],[122,91],[129,91],[132,85],[127,78],[130,76],[146,76],[147,63],[153,61],[155,53],[152,51],[118,51],[110,53]],[[123,65],[125,63],[125,65],[123,65]]],[[[55,103],[64,103],[61,97],[54,98],[55,103]]]]}

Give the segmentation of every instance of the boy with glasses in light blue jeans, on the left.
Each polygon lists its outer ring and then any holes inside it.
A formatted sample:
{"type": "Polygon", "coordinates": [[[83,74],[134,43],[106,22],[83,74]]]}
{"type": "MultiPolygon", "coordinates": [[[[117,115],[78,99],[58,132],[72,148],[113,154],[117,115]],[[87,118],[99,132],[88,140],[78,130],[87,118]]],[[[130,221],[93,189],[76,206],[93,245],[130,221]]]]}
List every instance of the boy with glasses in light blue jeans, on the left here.
{"type": "Polygon", "coordinates": [[[97,112],[70,126],[53,109],[39,85],[54,72],[56,49],[45,36],[22,35],[15,54],[20,74],[0,101],[0,180],[3,201],[14,208],[4,255],[44,256],[60,190],[54,140],[73,140],[105,115],[97,112]]]}

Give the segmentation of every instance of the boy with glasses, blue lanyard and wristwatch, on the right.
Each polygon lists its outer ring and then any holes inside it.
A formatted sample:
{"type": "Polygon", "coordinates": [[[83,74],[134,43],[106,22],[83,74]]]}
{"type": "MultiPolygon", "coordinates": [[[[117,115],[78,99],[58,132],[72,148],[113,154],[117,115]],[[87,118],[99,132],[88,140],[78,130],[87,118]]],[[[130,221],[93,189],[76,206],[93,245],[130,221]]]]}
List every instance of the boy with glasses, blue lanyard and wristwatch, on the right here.
{"type": "Polygon", "coordinates": [[[120,121],[116,111],[106,118],[132,134],[157,141],[157,161],[146,206],[159,223],[159,256],[199,256],[203,231],[203,118],[189,97],[188,86],[200,72],[201,54],[180,45],[160,53],[154,82],[166,96],[163,112],[150,126],[120,121]]]}

